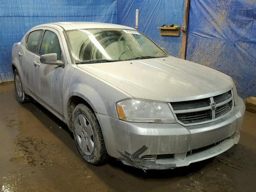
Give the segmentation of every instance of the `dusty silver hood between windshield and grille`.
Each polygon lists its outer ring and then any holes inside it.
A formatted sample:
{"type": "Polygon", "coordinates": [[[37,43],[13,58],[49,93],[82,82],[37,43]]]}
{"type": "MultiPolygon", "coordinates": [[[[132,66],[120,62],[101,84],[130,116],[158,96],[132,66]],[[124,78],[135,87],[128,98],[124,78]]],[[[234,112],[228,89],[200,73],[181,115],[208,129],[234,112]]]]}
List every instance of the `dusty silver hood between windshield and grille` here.
{"type": "Polygon", "coordinates": [[[78,64],[134,98],[176,102],[222,94],[232,88],[229,76],[175,57],[78,64]]]}

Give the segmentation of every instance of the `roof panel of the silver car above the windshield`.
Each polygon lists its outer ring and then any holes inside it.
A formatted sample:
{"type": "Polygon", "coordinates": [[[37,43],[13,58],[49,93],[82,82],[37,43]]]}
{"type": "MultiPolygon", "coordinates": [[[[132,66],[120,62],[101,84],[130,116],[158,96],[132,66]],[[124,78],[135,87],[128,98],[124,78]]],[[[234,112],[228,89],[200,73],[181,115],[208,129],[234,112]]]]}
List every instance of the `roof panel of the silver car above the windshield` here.
{"type": "Polygon", "coordinates": [[[98,23],[98,22],[56,22],[56,23],[48,23],[35,26],[33,28],[38,27],[49,27],[53,25],[58,25],[64,28],[64,30],[74,30],[74,29],[96,29],[96,28],[114,28],[114,29],[132,29],[134,28],[124,26],[124,25],[117,25],[117,24],[110,24],[110,23],[98,23]]]}

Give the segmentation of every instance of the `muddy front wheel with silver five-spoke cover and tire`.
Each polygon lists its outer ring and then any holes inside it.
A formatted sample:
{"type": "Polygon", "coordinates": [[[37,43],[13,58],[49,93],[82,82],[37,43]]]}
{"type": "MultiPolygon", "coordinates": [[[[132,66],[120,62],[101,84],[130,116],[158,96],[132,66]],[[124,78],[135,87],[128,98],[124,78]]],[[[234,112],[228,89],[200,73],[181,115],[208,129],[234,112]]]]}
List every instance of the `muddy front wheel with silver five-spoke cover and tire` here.
{"type": "Polygon", "coordinates": [[[94,112],[85,104],[78,104],[72,116],[76,146],[81,156],[90,164],[106,162],[109,156],[104,138],[94,112]]]}

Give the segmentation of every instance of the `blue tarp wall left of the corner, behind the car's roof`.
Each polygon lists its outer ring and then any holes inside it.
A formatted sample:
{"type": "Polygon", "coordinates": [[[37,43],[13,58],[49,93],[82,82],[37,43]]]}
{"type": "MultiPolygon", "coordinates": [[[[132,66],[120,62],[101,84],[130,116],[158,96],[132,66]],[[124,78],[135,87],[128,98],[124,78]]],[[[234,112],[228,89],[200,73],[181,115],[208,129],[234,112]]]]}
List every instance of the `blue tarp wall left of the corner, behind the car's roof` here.
{"type": "Polygon", "coordinates": [[[1,0],[0,82],[13,79],[11,51],[33,26],[65,21],[117,22],[117,0],[1,0]]]}

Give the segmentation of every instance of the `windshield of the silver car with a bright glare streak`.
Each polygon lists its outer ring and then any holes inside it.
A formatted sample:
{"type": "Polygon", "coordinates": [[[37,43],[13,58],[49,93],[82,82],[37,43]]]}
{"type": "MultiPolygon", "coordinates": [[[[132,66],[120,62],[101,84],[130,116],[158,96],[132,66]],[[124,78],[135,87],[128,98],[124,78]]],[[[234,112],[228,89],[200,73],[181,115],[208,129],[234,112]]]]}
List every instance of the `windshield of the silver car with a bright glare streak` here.
{"type": "Polygon", "coordinates": [[[76,63],[114,62],[168,55],[136,30],[79,29],[66,31],[76,63]]]}

